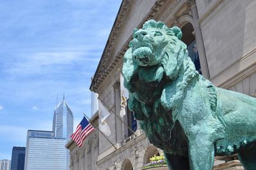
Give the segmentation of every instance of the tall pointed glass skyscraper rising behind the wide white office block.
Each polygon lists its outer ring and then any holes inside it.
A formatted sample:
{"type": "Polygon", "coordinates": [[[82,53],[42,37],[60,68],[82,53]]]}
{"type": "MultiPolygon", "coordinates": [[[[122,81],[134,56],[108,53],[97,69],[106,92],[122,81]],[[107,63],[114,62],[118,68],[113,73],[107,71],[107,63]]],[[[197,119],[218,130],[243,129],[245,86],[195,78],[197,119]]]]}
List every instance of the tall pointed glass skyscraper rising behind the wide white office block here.
{"type": "MultiPolygon", "coordinates": [[[[54,116],[52,122],[52,131],[55,137],[66,139],[66,143],[70,141],[70,136],[73,133],[73,113],[67,104],[65,97],[60,104],[54,109],[54,116]]],[[[69,169],[69,150],[67,150],[67,169],[69,169]]]]}

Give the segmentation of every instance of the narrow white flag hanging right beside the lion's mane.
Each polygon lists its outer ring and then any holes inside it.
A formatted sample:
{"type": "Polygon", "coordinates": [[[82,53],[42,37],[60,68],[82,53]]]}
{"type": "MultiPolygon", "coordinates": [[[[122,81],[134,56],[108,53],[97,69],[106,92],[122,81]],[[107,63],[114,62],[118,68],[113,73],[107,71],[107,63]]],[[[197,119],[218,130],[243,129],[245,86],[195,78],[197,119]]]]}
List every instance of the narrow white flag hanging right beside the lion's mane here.
{"type": "Polygon", "coordinates": [[[124,117],[126,114],[125,109],[127,107],[127,100],[129,98],[129,91],[124,87],[124,77],[122,73],[120,74],[120,91],[121,91],[121,110],[120,116],[124,117]]]}

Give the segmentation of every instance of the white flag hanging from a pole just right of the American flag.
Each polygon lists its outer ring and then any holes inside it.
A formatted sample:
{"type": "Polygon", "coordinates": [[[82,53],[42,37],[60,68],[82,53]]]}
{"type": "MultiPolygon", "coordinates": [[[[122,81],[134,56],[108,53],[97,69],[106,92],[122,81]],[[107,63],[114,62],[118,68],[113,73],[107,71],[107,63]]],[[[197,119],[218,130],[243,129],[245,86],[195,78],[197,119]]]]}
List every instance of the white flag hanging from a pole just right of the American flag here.
{"type": "Polygon", "coordinates": [[[106,123],[105,121],[110,115],[110,113],[99,99],[98,99],[98,102],[99,102],[99,130],[106,135],[110,135],[111,134],[110,128],[108,126],[108,123],[106,123]]]}

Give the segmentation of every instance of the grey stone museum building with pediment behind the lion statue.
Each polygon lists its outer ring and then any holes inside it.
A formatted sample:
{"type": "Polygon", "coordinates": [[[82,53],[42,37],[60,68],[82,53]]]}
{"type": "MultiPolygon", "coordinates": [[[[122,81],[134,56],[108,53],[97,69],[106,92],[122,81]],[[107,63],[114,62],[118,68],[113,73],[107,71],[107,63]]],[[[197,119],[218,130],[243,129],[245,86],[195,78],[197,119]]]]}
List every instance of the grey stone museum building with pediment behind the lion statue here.
{"type": "MultiPolygon", "coordinates": [[[[154,19],[182,29],[182,41],[188,45],[189,56],[206,79],[218,87],[255,97],[255,8],[253,0],[124,0],[90,89],[99,94],[110,108],[109,112],[119,115],[119,70],[122,70],[132,31],[154,19]]],[[[109,139],[114,146],[98,131],[93,132],[81,148],[70,141],[66,145],[71,155],[70,169],[140,169],[150,157],[161,152],[148,142],[139,124],[133,127],[136,120],[131,111],[127,110],[123,120],[135,134],[112,113],[107,123],[111,129],[109,139]]],[[[98,121],[98,112],[95,112],[92,122],[97,125],[98,121]]],[[[234,160],[236,155],[216,159],[229,162],[220,164],[216,160],[220,165],[214,169],[243,169],[239,161],[234,160]]]]}

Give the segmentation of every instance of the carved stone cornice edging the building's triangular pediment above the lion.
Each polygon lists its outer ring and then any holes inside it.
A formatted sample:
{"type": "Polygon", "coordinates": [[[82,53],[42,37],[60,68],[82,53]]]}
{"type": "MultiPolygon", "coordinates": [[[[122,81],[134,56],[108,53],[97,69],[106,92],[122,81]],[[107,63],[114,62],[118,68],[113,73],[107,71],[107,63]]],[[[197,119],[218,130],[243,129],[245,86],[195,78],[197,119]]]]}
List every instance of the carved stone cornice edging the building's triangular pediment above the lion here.
{"type": "MultiPolygon", "coordinates": [[[[181,0],[156,1],[154,6],[152,6],[150,11],[148,12],[147,16],[143,20],[141,20],[140,24],[138,25],[138,28],[142,27],[144,22],[146,22],[147,20],[150,20],[150,19],[160,20],[163,13],[168,8],[170,8],[171,5],[173,5],[172,3],[174,1],[177,2],[177,4],[179,4],[179,1],[181,0]]],[[[125,42],[124,46],[118,52],[118,54],[116,54],[116,56],[113,56],[113,58],[110,58],[111,48],[113,47],[113,44],[115,44],[116,36],[118,36],[118,33],[119,33],[118,29],[122,30],[122,26],[126,20],[125,16],[127,17],[129,15],[129,10],[131,9],[133,4],[134,4],[134,0],[132,1],[124,0],[121,4],[120,10],[115,20],[115,24],[113,25],[113,28],[109,35],[108,43],[104,49],[102,58],[100,59],[100,63],[93,77],[92,84],[90,86],[90,90],[92,91],[97,92],[97,89],[100,87],[100,84],[102,84],[102,82],[106,79],[106,77],[108,77],[109,73],[113,71],[113,68],[115,68],[115,66],[122,61],[122,58],[126,50],[129,48],[129,42],[132,40],[132,35],[127,40],[127,42],[125,42]]],[[[173,8],[175,8],[177,4],[173,5],[173,8]]]]}

